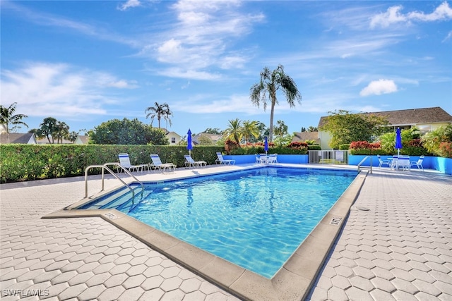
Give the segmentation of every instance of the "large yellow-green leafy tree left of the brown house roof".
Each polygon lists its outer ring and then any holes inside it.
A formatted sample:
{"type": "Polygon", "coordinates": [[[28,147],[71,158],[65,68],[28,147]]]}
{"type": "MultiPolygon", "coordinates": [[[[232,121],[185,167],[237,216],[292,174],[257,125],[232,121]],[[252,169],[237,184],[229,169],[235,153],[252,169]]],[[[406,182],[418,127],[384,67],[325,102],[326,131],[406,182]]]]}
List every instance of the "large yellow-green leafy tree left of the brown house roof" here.
{"type": "Polygon", "coordinates": [[[321,130],[331,133],[330,146],[338,149],[340,145],[349,144],[352,141],[371,142],[373,137],[378,137],[388,125],[388,121],[373,114],[355,114],[349,111],[339,110],[328,112],[326,123],[321,130]]]}

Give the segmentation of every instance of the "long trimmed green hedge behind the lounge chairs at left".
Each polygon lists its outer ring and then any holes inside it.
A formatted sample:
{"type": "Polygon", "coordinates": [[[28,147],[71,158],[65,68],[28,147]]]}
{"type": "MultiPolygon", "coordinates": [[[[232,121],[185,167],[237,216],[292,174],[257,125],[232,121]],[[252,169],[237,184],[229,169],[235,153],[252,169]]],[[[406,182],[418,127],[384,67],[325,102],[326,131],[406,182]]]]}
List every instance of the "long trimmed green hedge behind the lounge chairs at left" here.
{"type": "MultiPolygon", "coordinates": [[[[191,156],[215,164],[215,152],[224,147],[194,147],[191,156]]],[[[83,176],[90,165],[118,162],[118,154],[129,154],[131,164],[151,163],[150,154],[159,154],[162,162],[184,166],[184,146],[167,145],[0,145],[0,183],[83,176]]],[[[100,168],[90,169],[90,174],[100,168]]]]}

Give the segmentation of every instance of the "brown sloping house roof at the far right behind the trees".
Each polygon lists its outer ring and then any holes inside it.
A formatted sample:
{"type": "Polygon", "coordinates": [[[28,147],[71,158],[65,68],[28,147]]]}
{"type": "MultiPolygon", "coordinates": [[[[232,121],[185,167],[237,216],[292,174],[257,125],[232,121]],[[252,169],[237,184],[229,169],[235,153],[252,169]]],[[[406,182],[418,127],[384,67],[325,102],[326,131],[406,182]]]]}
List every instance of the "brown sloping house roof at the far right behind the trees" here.
{"type": "MultiPolygon", "coordinates": [[[[390,125],[417,125],[422,123],[452,123],[451,114],[439,106],[433,108],[407,109],[398,111],[368,112],[367,115],[386,117],[390,125]]],[[[319,128],[326,122],[328,116],[322,116],[319,128]]]]}

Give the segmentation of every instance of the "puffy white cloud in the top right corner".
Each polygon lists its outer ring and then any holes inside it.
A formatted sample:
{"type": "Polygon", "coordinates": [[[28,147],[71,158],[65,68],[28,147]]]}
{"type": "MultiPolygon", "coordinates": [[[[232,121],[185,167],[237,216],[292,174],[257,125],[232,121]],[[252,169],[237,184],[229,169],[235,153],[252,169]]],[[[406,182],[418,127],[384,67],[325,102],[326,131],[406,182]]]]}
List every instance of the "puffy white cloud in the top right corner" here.
{"type": "Polygon", "coordinates": [[[440,4],[432,13],[423,13],[420,11],[412,11],[407,14],[401,13],[403,6],[391,6],[385,13],[379,13],[371,18],[370,27],[377,26],[388,27],[394,23],[409,23],[419,20],[424,22],[432,22],[439,20],[451,20],[452,8],[446,1],[440,4]]]}

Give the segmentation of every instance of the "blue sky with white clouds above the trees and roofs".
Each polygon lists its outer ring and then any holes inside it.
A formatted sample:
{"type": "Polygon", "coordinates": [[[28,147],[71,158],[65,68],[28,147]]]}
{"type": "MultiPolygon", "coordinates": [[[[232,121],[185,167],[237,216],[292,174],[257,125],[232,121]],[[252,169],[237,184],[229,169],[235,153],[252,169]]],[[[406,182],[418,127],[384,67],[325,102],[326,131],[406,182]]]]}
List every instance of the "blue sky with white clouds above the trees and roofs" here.
{"type": "MultiPolygon", "coordinates": [[[[289,132],[328,111],[441,106],[452,114],[450,1],[5,1],[1,104],[30,128],[145,118],[166,102],[179,135],[270,121],[249,100],[267,66],[302,94],[278,94],[289,132]]],[[[157,121],[154,121],[157,126],[157,121]]],[[[165,127],[165,122],[162,123],[165,127]]]]}

